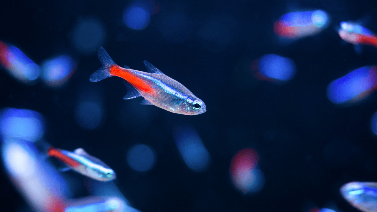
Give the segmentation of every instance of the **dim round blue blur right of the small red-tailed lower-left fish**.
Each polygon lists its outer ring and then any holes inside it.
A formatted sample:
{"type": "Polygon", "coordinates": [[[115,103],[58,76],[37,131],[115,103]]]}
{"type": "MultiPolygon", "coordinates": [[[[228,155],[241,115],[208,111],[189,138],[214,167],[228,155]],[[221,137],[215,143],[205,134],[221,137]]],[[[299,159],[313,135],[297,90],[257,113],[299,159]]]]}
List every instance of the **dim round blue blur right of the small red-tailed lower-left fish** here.
{"type": "Polygon", "coordinates": [[[144,144],[133,146],[127,153],[127,163],[133,170],[139,172],[152,169],[155,161],[152,149],[144,144]]]}

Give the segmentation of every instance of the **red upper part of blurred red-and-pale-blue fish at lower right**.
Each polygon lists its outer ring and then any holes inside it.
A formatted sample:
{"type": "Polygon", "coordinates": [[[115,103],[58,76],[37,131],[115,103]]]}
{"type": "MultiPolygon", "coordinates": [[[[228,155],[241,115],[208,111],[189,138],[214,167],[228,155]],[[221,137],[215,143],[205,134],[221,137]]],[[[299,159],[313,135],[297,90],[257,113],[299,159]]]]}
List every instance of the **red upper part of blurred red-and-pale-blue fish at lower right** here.
{"type": "Polygon", "coordinates": [[[239,170],[254,169],[259,163],[259,154],[255,149],[245,148],[236,152],[230,161],[230,174],[236,174],[239,170]]]}

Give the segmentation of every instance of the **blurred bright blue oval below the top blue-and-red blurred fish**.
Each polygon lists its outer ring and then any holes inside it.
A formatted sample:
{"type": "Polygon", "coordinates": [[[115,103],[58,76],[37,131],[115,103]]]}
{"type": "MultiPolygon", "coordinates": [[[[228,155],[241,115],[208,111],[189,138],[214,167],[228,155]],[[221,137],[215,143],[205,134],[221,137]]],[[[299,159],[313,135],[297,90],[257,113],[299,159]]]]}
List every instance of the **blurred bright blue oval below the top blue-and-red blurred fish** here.
{"type": "Polygon", "coordinates": [[[296,72],[296,67],[291,59],[274,54],[261,57],[258,68],[264,76],[277,80],[290,80],[296,72]]]}

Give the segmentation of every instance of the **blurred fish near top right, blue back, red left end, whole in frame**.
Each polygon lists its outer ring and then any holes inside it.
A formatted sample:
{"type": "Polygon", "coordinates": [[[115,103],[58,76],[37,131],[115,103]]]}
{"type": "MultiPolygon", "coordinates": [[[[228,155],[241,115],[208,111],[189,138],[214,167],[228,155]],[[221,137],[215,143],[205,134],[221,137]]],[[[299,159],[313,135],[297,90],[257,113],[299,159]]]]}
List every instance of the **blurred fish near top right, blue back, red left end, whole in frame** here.
{"type": "Polygon", "coordinates": [[[322,10],[290,12],[277,20],[273,29],[279,37],[297,39],[319,33],[328,22],[327,13],[322,10]]]}

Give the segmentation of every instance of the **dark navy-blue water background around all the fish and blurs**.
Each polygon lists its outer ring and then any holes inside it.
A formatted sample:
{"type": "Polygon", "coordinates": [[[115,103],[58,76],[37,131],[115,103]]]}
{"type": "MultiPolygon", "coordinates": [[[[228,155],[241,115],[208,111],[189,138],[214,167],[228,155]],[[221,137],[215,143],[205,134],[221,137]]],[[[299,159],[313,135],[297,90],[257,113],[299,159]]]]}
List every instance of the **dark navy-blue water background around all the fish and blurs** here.
{"type": "MultiPolygon", "coordinates": [[[[377,139],[370,130],[377,96],[351,106],[339,106],[326,97],[328,83],[353,69],[376,63],[377,50],[363,46],[356,54],[337,35],[341,21],[365,21],[377,32],[372,1],[160,1],[161,10],[141,31],[122,20],[124,1],[3,1],[0,40],[20,48],[40,63],[51,55],[69,53],[77,70],[60,89],[43,83],[26,86],[0,71],[0,108],[32,109],[44,115],[45,140],[61,149],[83,147],[109,164],[116,184],[131,205],[148,211],[303,211],[335,203],[343,211],[357,211],[342,199],[339,188],[348,181],[377,181],[377,139]],[[331,23],[320,34],[281,45],[272,26],[294,9],[322,9],[331,23]],[[165,40],[161,26],[176,12],[191,20],[184,43],[165,40]],[[80,17],[100,19],[107,32],[103,45],[120,66],[144,71],[143,60],[184,84],[207,105],[196,116],[173,114],[154,106],[140,106],[141,98],[122,100],[126,94],[118,78],[91,83],[100,68],[97,54],[82,56],[67,34],[80,17]],[[208,20],[222,23],[227,34],[202,40],[198,31],[208,20]],[[124,39],[118,41],[119,33],[124,39]],[[219,45],[216,39],[225,39],[219,45]],[[289,57],[297,72],[288,83],[257,81],[251,62],[264,54],[289,57]],[[102,92],[106,108],[103,126],[80,128],[74,120],[77,92],[102,92]],[[135,113],[124,108],[138,108],[135,113]],[[123,111],[120,113],[120,111],[123,111]],[[138,114],[147,114],[138,117],[138,114]],[[212,162],[207,171],[194,173],[185,166],[172,132],[179,124],[192,125],[207,147],[212,162]],[[156,166],[147,173],[133,171],[124,154],[133,144],[152,146],[156,166]],[[260,154],[264,188],[242,195],[231,184],[229,165],[239,150],[251,147],[260,154]],[[330,157],[325,155],[331,155],[330,157]]],[[[24,201],[1,175],[3,206],[22,211],[24,201]]],[[[75,173],[67,173],[81,180],[75,173]]],[[[87,193],[82,188],[77,196],[87,193]]]]}

